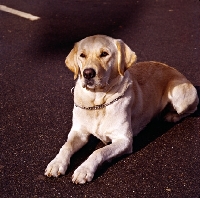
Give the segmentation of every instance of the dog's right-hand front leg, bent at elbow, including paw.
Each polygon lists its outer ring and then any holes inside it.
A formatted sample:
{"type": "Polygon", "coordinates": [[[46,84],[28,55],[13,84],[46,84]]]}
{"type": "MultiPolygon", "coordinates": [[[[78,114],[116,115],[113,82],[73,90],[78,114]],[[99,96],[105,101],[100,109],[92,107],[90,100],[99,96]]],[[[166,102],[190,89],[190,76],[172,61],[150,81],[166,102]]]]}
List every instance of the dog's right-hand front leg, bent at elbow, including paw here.
{"type": "Polygon", "coordinates": [[[94,151],[89,158],[74,171],[72,181],[76,184],[89,182],[92,180],[98,166],[104,161],[108,161],[114,157],[131,152],[132,138],[124,138],[113,141],[112,144],[94,151]]]}

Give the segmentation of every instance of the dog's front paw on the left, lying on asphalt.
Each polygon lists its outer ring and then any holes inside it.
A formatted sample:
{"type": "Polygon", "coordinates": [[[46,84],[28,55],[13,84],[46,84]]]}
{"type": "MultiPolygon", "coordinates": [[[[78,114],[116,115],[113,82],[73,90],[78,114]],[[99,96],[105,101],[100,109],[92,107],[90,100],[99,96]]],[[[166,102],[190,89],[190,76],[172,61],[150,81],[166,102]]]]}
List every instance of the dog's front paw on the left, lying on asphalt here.
{"type": "Polygon", "coordinates": [[[59,158],[54,158],[47,166],[44,175],[47,177],[58,177],[59,175],[64,175],[67,167],[68,162],[64,162],[59,158]]]}

